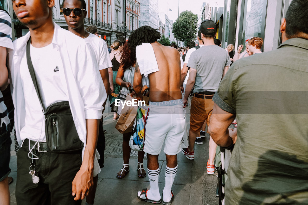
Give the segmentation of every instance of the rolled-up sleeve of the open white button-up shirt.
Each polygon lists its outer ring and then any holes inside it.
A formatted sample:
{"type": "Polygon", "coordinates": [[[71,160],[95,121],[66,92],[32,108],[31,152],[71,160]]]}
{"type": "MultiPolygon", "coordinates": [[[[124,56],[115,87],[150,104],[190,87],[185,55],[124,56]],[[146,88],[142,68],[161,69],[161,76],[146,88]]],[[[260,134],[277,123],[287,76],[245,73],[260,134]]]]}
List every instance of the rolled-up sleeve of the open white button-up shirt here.
{"type": "Polygon", "coordinates": [[[101,119],[103,103],[107,99],[107,93],[100,76],[98,62],[90,44],[86,43],[83,52],[78,54],[77,85],[83,99],[86,119],[101,119]]]}

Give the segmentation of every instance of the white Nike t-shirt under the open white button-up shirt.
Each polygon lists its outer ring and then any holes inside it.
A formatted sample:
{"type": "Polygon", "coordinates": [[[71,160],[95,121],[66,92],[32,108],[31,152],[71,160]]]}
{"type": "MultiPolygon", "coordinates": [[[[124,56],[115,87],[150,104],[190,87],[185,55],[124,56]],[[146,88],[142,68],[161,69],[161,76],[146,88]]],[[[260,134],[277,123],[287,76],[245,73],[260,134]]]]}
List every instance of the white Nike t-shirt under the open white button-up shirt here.
{"type": "MultiPolygon", "coordinates": [[[[30,56],[45,110],[55,102],[68,101],[59,72],[60,69],[63,69],[60,53],[53,48],[52,44],[42,48],[30,45],[30,56]]],[[[21,63],[27,65],[26,52],[21,63]]],[[[25,126],[20,131],[20,138],[21,140],[28,138],[34,141],[39,139],[39,142],[46,142],[45,116],[28,66],[21,67],[20,75],[26,110],[25,126]]]]}

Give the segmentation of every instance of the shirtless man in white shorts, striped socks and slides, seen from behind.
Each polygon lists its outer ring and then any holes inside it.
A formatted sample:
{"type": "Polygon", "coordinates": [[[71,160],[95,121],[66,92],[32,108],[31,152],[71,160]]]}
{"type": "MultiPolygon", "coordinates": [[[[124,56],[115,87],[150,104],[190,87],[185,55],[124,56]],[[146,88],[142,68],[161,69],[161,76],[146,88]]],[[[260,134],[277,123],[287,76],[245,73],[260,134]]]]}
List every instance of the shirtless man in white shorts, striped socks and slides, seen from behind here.
{"type": "Polygon", "coordinates": [[[163,204],[171,204],[174,196],[171,187],[177,170],[176,154],[180,152],[185,115],[180,90],[179,53],[173,47],[162,46],[157,42],[159,38],[160,33],[150,26],[141,26],[135,30],[128,39],[131,58],[126,62],[124,59],[122,63],[125,67],[136,62],[134,90],[138,100],[143,99],[141,94],[143,75],[149,78],[151,90],[144,128],[144,152],[148,153],[148,177],[151,189],[139,191],[138,198],[151,203],[162,201],[163,204]],[[158,189],[160,173],[158,155],[163,143],[167,166],[161,198],[158,189]]]}

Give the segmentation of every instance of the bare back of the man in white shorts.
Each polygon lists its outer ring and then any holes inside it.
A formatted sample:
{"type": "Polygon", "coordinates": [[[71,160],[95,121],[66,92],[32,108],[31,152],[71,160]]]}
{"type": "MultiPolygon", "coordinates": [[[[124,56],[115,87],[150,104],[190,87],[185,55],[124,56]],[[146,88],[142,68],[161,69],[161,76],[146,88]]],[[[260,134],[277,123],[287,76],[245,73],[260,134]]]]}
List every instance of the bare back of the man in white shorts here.
{"type": "Polygon", "coordinates": [[[158,42],[151,43],[159,71],[148,75],[150,101],[161,102],[182,99],[179,51],[158,42]]]}

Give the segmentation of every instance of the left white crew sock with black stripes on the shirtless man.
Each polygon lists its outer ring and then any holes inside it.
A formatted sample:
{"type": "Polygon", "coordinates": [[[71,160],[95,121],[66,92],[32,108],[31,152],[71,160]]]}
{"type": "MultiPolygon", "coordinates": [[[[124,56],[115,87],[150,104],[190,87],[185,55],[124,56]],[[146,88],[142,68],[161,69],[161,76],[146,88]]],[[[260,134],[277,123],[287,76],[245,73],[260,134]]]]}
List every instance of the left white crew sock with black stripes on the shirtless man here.
{"type": "MultiPolygon", "coordinates": [[[[156,170],[148,169],[148,177],[150,181],[150,189],[148,190],[147,197],[148,199],[158,201],[160,200],[160,193],[158,189],[158,178],[159,178],[159,168],[156,170]]],[[[138,191],[138,196],[140,196],[141,191],[138,191]]],[[[140,198],[145,199],[144,195],[141,195],[140,198]]]]}

